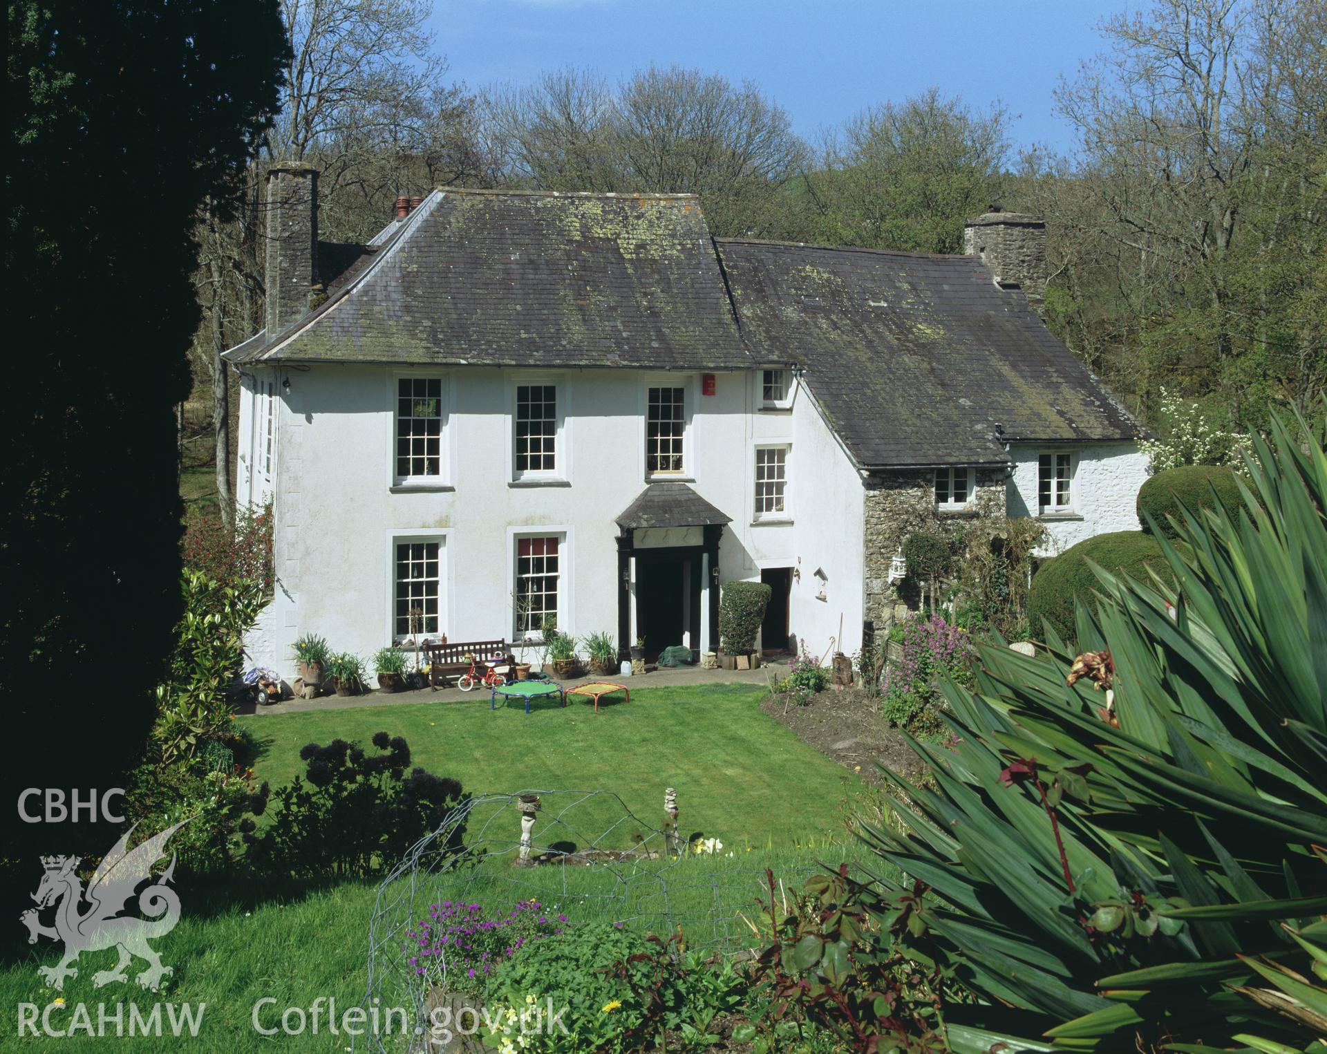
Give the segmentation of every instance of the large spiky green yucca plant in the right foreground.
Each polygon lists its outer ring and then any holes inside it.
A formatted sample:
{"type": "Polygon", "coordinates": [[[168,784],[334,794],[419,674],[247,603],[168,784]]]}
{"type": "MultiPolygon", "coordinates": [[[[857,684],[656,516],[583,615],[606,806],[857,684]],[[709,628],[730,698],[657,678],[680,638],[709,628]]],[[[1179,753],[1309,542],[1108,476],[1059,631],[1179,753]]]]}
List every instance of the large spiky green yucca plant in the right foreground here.
{"type": "Polygon", "coordinates": [[[882,770],[892,824],[864,838],[906,877],[876,881],[924,895],[878,921],[978,997],[951,1049],[1327,1034],[1327,459],[1299,442],[1255,441],[1238,518],[1156,532],[1173,584],[1099,572],[1082,654],[983,645],[977,688],[943,686],[950,741],[913,743],[929,786],[882,770]]]}

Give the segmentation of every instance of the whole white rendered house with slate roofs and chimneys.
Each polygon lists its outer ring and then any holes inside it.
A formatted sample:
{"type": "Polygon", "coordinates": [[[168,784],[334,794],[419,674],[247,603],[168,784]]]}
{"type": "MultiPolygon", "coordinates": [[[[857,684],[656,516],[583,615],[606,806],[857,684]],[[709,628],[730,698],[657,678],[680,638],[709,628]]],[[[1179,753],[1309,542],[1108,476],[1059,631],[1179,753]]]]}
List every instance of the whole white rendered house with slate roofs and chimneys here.
{"type": "MultiPolygon", "coordinates": [[[[942,522],[998,487],[1066,544],[1136,526],[1139,425],[989,248],[717,242],[689,195],[450,188],[329,247],[312,170],[275,169],[269,202],[267,328],[227,358],[238,498],[275,510],[248,644],[279,670],[304,633],[411,637],[411,611],[425,637],[555,616],[698,654],[735,579],[774,588],[766,648],[841,625],[851,653],[890,617],[904,496],[942,522]]],[[[973,230],[1039,230],[1001,215],[973,230]]]]}

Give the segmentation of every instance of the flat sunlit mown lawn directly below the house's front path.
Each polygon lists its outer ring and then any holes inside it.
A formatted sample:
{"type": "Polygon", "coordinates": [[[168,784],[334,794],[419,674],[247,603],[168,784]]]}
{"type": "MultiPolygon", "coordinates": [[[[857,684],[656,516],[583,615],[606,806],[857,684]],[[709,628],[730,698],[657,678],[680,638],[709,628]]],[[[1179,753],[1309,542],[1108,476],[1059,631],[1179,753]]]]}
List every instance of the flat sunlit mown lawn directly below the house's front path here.
{"type": "MultiPolygon", "coordinates": [[[[472,794],[608,790],[641,824],[661,827],[664,790],[674,787],[683,835],[702,832],[744,851],[837,828],[847,775],[762,713],[763,696],[747,685],[642,688],[629,704],[601,702],[598,714],[572,701],[527,715],[515,702],[490,710],[487,693],[476,693],[462,702],[259,714],[240,723],[261,750],[257,777],[273,787],[303,771],[305,743],[340,737],[368,745],[382,730],[405,737],[415,765],[472,794]]],[[[575,822],[598,835],[621,815],[616,802],[596,800],[575,822]]],[[[632,830],[624,824],[620,846],[632,830]]]]}

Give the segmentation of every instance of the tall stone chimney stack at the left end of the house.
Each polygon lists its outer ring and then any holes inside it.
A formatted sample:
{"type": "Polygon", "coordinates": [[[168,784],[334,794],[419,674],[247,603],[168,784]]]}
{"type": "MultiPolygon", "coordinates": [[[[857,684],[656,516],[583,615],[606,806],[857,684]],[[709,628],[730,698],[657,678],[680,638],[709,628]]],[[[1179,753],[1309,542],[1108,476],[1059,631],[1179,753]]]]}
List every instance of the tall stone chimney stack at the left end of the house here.
{"type": "Polygon", "coordinates": [[[267,336],[309,311],[318,284],[318,174],[279,162],[267,174],[267,336]]]}

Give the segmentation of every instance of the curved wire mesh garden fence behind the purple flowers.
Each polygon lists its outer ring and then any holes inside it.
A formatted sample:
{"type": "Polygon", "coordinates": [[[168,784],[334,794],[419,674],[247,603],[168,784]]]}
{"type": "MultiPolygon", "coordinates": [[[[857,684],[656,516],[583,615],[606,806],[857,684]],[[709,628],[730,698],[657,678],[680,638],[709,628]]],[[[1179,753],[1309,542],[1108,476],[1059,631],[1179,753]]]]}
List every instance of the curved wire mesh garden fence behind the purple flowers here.
{"type": "MultiPolygon", "coordinates": [[[[671,795],[671,789],[669,790],[671,795]]],[[[675,819],[675,799],[669,799],[675,819]]],[[[711,846],[713,847],[713,846],[711,846]]],[[[681,929],[691,949],[734,952],[762,942],[754,923],[764,871],[739,859],[698,855],[675,828],[640,819],[612,791],[528,790],[476,795],[421,839],[378,888],[369,924],[365,1006],[401,1008],[407,1039],[426,1049],[430,1006],[447,986],[445,949],[417,964],[411,932],[445,901],[510,908],[537,900],[579,921],[640,932],[681,929]],[[606,823],[604,815],[608,814],[606,823]],[[471,831],[471,823],[478,828],[471,831]]],[[[819,868],[780,868],[784,880],[819,868]]],[[[389,1037],[364,1037],[385,1051],[389,1037]]],[[[356,1041],[357,1049],[361,1041],[356,1041]]]]}

